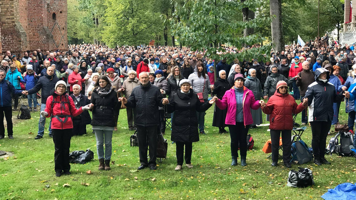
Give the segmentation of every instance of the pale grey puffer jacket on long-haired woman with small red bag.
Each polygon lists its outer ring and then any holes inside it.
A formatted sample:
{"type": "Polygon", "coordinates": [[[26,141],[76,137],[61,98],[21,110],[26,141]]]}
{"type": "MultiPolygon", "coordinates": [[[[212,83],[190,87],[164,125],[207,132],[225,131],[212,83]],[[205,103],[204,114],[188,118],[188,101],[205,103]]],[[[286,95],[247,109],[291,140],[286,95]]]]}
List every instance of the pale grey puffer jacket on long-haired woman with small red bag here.
{"type": "Polygon", "coordinates": [[[190,74],[188,79],[190,83],[192,83],[193,92],[195,93],[203,92],[203,98],[208,99],[208,91],[210,90],[209,76],[205,74],[205,78],[202,75],[198,77],[198,70],[197,67],[195,67],[194,73],[190,74]]]}

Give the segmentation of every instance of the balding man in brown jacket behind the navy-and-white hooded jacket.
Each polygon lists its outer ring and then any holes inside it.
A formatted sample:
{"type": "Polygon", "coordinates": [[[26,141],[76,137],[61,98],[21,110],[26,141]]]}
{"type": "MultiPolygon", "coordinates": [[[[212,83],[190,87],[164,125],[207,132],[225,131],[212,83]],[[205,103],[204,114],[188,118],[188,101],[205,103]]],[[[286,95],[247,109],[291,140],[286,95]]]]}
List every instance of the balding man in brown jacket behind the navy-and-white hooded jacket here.
{"type": "MultiPolygon", "coordinates": [[[[310,70],[309,62],[304,61],[302,63],[303,71],[299,72],[296,76],[295,84],[300,88],[300,100],[302,101],[305,96],[305,92],[308,89],[308,86],[312,84],[314,80],[314,71],[310,70]]],[[[308,123],[308,118],[305,114],[305,109],[302,111],[302,125],[306,125],[308,123]]]]}

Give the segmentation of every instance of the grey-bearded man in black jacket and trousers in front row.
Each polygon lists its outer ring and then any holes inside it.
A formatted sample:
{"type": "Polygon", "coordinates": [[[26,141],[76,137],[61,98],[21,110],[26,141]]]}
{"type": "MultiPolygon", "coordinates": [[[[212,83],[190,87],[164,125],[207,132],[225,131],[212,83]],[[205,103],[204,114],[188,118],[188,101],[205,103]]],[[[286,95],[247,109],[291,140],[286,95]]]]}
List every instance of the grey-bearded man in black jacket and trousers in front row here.
{"type": "Polygon", "coordinates": [[[137,127],[138,152],[140,153],[141,166],[138,170],[150,166],[150,169],[156,169],[156,148],[159,124],[158,106],[168,103],[167,98],[162,99],[162,94],[158,87],[151,85],[147,72],[141,72],[139,75],[140,86],[133,88],[129,99],[120,97],[127,108],[136,108],[137,115],[135,124],[137,127]],[[147,161],[147,141],[150,147],[150,161],[147,161]]]}

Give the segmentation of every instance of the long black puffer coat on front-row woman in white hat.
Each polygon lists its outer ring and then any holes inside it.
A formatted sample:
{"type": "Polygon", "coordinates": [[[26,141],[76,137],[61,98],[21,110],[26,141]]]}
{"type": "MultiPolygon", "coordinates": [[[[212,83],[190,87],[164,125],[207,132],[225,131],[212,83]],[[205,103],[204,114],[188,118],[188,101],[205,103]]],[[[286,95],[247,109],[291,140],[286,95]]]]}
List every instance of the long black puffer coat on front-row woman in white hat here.
{"type": "Polygon", "coordinates": [[[197,112],[205,112],[211,107],[209,102],[200,103],[198,95],[190,89],[188,94],[179,90],[173,94],[167,106],[174,111],[171,140],[174,142],[199,141],[197,112]]]}

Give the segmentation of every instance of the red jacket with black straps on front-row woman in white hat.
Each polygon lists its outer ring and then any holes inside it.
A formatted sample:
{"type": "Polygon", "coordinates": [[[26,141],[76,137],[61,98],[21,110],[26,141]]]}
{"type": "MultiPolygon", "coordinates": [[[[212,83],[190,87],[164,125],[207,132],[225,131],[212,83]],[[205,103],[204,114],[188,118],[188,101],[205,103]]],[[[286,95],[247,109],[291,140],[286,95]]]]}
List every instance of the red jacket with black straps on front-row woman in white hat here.
{"type": "MultiPolygon", "coordinates": [[[[76,117],[83,112],[82,107],[75,109],[73,99],[69,97],[68,94],[59,96],[57,92],[47,98],[45,111],[48,113],[47,117],[51,117],[52,115],[72,115],[72,117],[76,117]],[[54,105],[52,109],[53,98],[54,105]]],[[[65,119],[66,117],[64,116],[53,116],[51,123],[52,129],[72,129],[72,118],[67,116],[67,120],[65,119]]]]}

